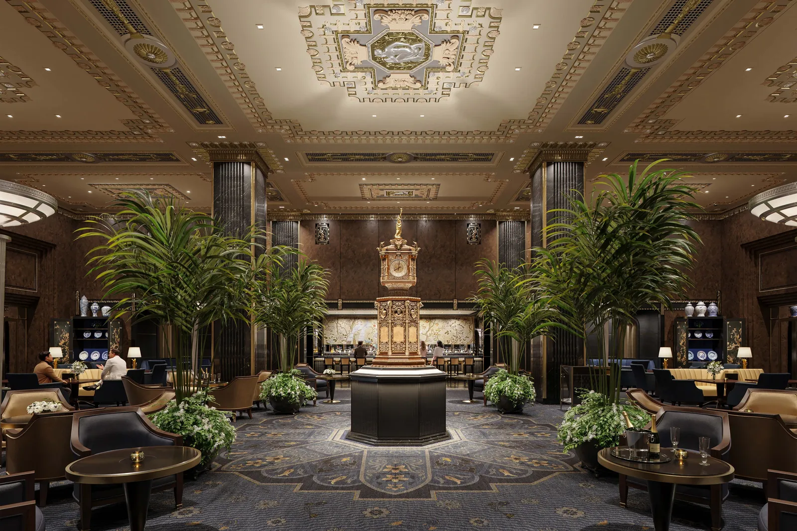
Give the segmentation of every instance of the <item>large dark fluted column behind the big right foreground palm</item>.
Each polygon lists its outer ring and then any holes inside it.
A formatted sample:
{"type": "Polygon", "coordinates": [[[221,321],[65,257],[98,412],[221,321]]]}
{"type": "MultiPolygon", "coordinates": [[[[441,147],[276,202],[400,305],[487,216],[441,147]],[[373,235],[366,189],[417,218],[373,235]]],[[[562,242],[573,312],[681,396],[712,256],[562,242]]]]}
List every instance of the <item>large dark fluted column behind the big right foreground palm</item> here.
{"type": "MultiPolygon", "coordinates": [[[[540,149],[528,170],[532,181],[532,246],[545,247],[551,239],[545,227],[561,222],[561,213],[552,212],[569,208],[567,195],[573,191],[583,194],[584,161],[587,149],[540,149]]],[[[559,370],[562,365],[583,365],[583,340],[575,334],[557,331],[551,338],[532,343],[531,364],[538,399],[559,402],[559,370]]]]}

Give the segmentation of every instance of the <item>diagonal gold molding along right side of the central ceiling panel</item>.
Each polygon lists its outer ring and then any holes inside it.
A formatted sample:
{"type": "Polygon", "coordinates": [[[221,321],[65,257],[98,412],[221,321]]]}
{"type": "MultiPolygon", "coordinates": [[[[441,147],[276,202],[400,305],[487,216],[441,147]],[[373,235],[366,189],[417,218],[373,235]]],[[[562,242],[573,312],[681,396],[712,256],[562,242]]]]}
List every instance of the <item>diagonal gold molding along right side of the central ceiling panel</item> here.
{"type": "Polygon", "coordinates": [[[556,64],[556,73],[537,97],[532,112],[528,114],[530,125],[525,127],[535,128],[538,133],[545,131],[633,1],[598,0],[591,6],[587,17],[579,23],[579,31],[567,43],[567,53],[556,64]]]}

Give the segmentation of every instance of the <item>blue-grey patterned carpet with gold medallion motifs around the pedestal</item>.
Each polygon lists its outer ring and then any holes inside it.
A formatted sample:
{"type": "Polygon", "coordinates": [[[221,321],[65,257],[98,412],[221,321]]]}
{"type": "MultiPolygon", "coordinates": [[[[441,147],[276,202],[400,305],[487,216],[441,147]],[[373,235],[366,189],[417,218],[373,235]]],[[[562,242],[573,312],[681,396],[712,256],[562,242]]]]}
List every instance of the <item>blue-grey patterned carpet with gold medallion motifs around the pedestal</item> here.
{"type": "MultiPolygon", "coordinates": [[[[374,448],[344,439],[349,392],[341,403],[286,417],[260,411],[236,423],[234,449],[213,470],[186,482],[183,509],[153,494],[147,529],[220,531],[373,529],[643,531],[652,529],[647,494],[630,490],[619,506],[614,478],[596,479],[556,442],[556,406],[498,415],[466,391],[449,390],[452,439],[422,448],[374,448]]],[[[77,525],[70,486],[53,486],[48,531],[77,525]]],[[[734,482],[724,529],[756,529],[760,486],[734,482]],[[757,487],[757,488],[756,488],[757,487]]],[[[676,502],[673,531],[710,529],[709,509],[676,502]]],[[[92,529],[127,529],[124,505],[95,509],[92,529]]]]}

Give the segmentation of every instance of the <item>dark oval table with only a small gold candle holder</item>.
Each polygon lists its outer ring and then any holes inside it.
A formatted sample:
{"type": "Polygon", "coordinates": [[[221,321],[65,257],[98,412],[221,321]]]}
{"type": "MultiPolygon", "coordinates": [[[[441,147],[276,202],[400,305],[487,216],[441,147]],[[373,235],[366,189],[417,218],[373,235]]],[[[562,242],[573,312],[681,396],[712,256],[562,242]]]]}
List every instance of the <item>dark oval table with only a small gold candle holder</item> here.
{"type": "Polygon", "coordinates": [[[76,483],[108,485],[122,483],[128,505],[130,531],[143,531],[152,480],[183,474],[202,460],[202,452],[189,446],[143,446],[110,450],[88,455],[66,466],[66,478],[76,483]],[[130,454],[144,453],[142,462],[134,463],[130,454]]]}

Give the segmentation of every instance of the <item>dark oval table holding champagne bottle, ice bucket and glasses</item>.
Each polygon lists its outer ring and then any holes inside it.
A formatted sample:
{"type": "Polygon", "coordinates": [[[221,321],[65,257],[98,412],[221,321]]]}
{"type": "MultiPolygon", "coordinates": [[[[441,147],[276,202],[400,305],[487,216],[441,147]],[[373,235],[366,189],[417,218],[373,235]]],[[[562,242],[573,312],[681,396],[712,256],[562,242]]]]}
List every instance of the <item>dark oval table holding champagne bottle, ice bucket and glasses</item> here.
{"type": "Polygon", "coordinates": [[[662,448],[662,454],[666,451],[667,457],[672,460],[654,464],[616,458],[611,455],[611,450],[613,449],[600,450],[598,462],[618,474],[647,481],[650,511],[653,513],[656,531],[669,531],[676,485],[717,485],[733,479],[733,467],[727,462],[709,457],[709,465],[702,466],[700,453],[695,451],[688,450],[689,457],[680,460],[673,456],[671,448],[662,448]]]}

